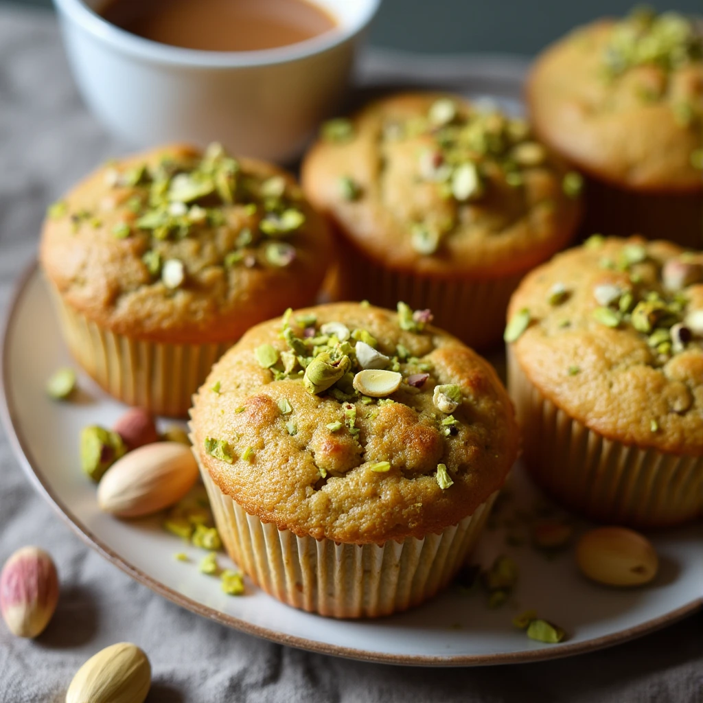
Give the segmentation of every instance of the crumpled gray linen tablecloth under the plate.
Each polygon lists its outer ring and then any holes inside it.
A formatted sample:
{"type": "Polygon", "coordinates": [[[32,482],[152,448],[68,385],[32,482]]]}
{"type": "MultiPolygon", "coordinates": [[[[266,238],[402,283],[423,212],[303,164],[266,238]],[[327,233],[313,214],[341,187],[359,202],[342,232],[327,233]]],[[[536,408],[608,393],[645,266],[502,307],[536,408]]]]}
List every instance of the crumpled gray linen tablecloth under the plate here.
{"type": "MultiPolygon", "coordinates": [[[[46,204],[122,150],[80,102],[53,16],[0,11],[0,315],[34,256],[46,204]]],[[[2,702],[63,701],[77,668],[122,640],[148,652],[150,702],[703,702],[702,614],[611,650],[482,669],[350,662],[214,624],[84,546],[32,490],[0,431],[0,562],[25,544],[51,552],[61,598],[35,641],[0,624],[2,702]]]]}

